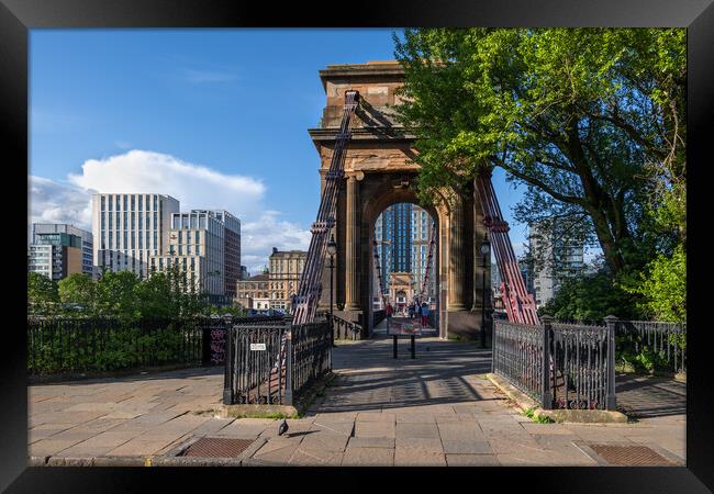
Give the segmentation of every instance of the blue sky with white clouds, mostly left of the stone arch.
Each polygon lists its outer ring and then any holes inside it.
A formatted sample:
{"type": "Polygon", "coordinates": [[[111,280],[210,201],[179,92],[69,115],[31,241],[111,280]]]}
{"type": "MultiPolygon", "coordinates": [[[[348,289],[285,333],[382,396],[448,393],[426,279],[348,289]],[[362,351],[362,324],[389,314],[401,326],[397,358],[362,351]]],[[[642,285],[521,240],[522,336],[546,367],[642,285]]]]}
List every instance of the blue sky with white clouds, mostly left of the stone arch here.
{"type": "MultiPolygon", "coordinates": [[[[393,31],[33,30],[31,221],[89,228],[91,191],[166,188],[150,192],[238,215],[254,269],[272,245],[306,247],[317,71],[394,58],[393,31]]],[[[524,242],[511,217],[520,193],[500,170],[494,187],[512,240],[524,242]]]]}

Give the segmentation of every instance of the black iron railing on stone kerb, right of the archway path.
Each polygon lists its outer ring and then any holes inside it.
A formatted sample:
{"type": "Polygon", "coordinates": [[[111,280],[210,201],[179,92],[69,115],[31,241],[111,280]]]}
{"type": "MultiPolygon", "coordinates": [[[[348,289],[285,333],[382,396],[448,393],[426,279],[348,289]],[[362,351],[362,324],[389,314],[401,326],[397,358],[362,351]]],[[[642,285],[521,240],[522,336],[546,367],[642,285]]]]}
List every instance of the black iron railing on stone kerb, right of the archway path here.
{"type": "Polygon", "coordinates": [[[614,328],[542,323],[495,321],[493,371],[545,409],[614,409],[614,328]]]}

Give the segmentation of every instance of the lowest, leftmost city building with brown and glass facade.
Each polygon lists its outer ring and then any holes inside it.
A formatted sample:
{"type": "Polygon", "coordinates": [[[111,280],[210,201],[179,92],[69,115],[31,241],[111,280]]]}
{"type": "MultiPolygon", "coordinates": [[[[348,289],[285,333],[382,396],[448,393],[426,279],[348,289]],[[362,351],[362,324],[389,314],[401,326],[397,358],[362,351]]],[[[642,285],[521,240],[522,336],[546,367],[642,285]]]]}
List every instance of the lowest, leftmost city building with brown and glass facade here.
{"type": "MultiPolygon", "coordinates": [[[[93,240],[92,240],[92,234],[90,232],[87,232],[81,228],[77,228],[76,226],[68,225],[65,223],[34,223],[32,225],[32,244],[34,246],[41,246],[41,245],[55,245],[59,246],[63,245],[65,247],[70,247],[70,248],[76,248],[74,244],[76,244],[76,239],[70,239],[70,237],[79,237],[79,249],[81,250],[80,257],[80,269],[79,271],[76,270],[74,267],[74,260],[71,261],[72,267],[69,268],[69,266],[66,266],[63,268],[65,271],[69,269],[67,274],[71,274],[72,272],[83,272],[85,274],[89,274],[90,277],[94,277],[96,270],[93,269],[93,240]]],[[[46,251],[46,247],[38,247],[35,249],[35,251],[43,252],[46,251]]],[[[31,248],[32,251],[32,248],[31,248]]],[[[57,256],[59,255],[59,251],[55,251],[54,256],[55,259],[57,259],[57,256]]],[[[69,251],[67,254],[67,260],[69,261],[69,257],[74,258],[76,256],[76,252],[69,251]]],[[[41,259],[44,259],[44,256],[41,256],[41,258],[35,259],[37,262],[35,262],[36,266],[44,266],[45,268],[48,268],[47,265],[45,265],[41,259]]],[[[55,271],[57,272],[57,271],[55,271]]],[[[62,272],[62,270],[59,271],[62,272]]],[[[65,274],[65,276],[67,276],[65,274]]],[[[64,278],[63,276],[62,278],[64,278]]]]}

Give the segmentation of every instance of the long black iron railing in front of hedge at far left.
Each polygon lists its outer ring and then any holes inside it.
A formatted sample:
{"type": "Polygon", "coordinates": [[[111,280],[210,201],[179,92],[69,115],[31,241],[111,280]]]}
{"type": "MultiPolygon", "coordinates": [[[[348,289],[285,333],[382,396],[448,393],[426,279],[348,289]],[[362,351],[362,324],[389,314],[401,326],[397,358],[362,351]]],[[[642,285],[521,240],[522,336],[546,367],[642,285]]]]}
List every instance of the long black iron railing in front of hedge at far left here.
{"type": "Polygon", "coordinates": [[[200,366],[207,318],[27,317],[31,375],[200,366]]]}

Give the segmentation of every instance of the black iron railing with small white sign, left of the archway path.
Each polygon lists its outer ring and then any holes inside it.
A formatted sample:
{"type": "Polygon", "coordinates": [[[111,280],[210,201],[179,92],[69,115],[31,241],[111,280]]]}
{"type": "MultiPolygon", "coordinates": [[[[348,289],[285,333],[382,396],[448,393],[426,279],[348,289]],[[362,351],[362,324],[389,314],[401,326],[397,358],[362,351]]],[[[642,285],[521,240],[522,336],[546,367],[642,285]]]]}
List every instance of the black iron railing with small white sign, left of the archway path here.
{"type": "Polygon", "coordinates": [[[331,370],[330,332],[330,321],[234,324],[226,341],[223,403],[293,404],[306,386],[331,370]],[[289,358],[279,358],[281,349],[289,358]],[[280,361],[285,367],[276,366],[280,361]]]}

